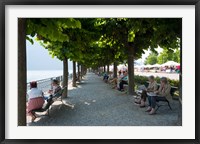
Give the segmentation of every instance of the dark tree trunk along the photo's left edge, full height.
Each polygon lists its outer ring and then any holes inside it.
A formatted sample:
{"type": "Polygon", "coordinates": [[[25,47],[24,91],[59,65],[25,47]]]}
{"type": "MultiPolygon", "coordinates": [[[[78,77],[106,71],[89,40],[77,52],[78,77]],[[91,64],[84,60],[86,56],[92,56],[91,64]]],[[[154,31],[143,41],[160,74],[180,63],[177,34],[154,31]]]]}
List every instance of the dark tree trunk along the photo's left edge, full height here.
{"type": "Polygon", "coordinates": [[[26,19],[18,19],[18,126],[26,126],[26,19]]]}

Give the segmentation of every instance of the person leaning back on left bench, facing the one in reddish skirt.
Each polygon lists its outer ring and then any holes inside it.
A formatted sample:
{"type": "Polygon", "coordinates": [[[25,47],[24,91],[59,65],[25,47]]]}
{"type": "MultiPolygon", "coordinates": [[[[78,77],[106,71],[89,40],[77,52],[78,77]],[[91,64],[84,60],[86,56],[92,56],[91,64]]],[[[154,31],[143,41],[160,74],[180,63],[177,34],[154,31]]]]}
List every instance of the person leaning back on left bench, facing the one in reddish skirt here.
{"type": "Polygon", "coordinates": [[[54,79],[52,81],[52,89],[48,91],[48,93],[50,94],[49,96],[45,96],[45,100],[49,101],[52,100],[52,95],[56,94],[57,92],[59,92],[61,90],[61,87],[59,85],[59,81],[54,79]]]}

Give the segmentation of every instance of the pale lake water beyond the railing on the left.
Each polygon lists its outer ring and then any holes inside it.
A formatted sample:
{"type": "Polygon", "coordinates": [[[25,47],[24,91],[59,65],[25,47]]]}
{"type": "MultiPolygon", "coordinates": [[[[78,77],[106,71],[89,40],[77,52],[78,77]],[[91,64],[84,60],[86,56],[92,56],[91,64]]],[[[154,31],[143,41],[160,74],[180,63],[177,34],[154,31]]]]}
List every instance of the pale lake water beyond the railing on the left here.
{"type": "MultiPolygon", "coordinates": [[[[71,73],[72,70],[69,70],[69,74],[71,73]]],[[[37,81],[62,75],[63,75],[63,70],[28,70],[27,82],[37,81]]]]}

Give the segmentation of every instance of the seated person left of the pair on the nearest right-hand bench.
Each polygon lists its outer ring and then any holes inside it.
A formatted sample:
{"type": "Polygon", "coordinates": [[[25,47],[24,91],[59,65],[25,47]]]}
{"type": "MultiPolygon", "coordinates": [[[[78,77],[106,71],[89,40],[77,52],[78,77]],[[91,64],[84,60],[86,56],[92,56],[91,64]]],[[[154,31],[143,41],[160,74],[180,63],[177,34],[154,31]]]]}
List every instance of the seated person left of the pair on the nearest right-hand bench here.
{"type": "Polygon", "coordinates": [[[145,107],[147,92],[155,92],[158,89],[157,82],[155,81],[153,75],[149,76],[149,82],[150,83],[148,87],[142,90],[141,99],[139,99],[139,101],[135,101],[136,103],[140,104],[140,108],[145,107]]]}

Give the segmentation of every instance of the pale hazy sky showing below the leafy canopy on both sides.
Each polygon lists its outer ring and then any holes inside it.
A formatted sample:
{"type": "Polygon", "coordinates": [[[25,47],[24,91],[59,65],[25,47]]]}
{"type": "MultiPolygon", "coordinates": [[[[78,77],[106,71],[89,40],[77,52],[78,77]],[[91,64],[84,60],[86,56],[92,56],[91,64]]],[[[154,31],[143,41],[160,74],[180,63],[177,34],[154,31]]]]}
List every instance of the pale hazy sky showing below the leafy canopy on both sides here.
{"type": "MultiPolygon", "coordinates": [[[[56,57],[52,58],[49,55],[48,50],[42,47],[37,41],[34,41],[32,45],[29,41],[26,41],[27,48],[27,69],[28,70],[62,70],[63,62],[56,57]]],[[[158,53],[162,51],[162,48],[156,49],[158,53]]],[[[146,57],[150,54],[150,50],[145,50],[145,54],[142,54],[142,58],[137,60],[137,63],[143,64],[146,57]]],[[[69,70],[72,70],[72,62],[68,61],[69,70]]]]}

